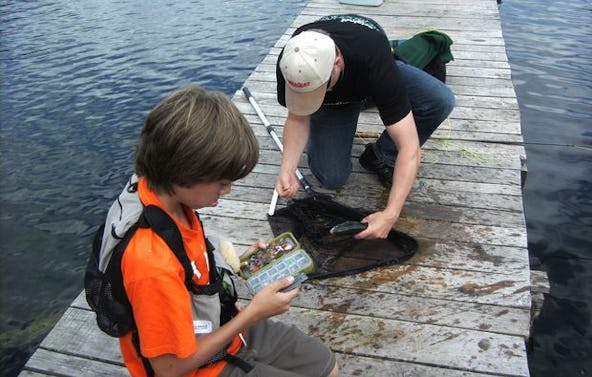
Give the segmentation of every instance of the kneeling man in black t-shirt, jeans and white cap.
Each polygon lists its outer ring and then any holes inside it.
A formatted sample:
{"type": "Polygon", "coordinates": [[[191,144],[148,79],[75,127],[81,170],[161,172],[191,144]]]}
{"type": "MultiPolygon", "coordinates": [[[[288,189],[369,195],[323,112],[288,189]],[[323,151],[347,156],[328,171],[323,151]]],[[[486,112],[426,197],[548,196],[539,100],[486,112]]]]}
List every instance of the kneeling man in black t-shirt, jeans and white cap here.
{"type": "Polygon", "coordinates": [[[372,98],[386,130],[368,144],[360,164],[390,189],[384,209],[370,214],[357,238],[385,238],[415,181],[420,146],[454,107],[438,79],[395,61],[390,42],[373,20],[326,16],[298,28],[278,59],[278,102],[288,108],[276,190],[292,197],[294,173],[307,147],[310,169],[324,187],[345,184],[362,101],[372,98]]]}

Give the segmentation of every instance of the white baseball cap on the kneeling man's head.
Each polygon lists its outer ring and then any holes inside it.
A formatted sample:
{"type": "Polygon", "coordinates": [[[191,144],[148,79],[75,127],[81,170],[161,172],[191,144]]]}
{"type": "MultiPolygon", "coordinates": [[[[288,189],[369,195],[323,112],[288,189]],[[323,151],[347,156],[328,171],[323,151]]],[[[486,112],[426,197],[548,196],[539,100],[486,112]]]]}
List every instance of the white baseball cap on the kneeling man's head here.
{"type": "Polygon", "coordinates": [[[335,42],[323,33],[303,31],[286,43],[280,70],[291,113],[310,115],[321,107],[334,64],[335,42]]]}

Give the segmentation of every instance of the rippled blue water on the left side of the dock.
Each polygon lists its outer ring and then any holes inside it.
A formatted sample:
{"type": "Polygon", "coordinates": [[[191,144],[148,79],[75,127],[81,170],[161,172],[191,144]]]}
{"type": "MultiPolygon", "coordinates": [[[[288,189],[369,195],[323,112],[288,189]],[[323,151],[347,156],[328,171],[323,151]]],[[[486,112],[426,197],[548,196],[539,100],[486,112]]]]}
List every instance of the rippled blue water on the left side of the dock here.
{"type": "Polygon", "coordinates": [[[303,6],[258,11],[270,4],[2,2],[0,375],[17,374],[82,290],[146,113],[181,85],[240,89],[303,6]]]}

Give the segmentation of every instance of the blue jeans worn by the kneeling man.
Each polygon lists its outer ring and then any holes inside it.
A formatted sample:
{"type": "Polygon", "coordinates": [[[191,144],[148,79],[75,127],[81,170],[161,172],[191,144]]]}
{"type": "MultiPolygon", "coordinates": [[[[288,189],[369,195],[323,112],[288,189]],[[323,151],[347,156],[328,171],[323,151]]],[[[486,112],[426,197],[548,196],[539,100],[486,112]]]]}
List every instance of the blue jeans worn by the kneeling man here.
{"type": "MultiPolygon", "coordinates": [[[[454,108],[454,94],[446,84],[421,69],[399,60],[396,64],[407,89],[419,144],[423,145],[454,108]]],[[[361,109],[361,103],[327,105],[311,116],[308,165],[323,187],[342,187],[351,173],[352,144],[361,109]]],[[[373,148],[380,161],[395,165],[397,147],[386,130],[373,148]]]]}

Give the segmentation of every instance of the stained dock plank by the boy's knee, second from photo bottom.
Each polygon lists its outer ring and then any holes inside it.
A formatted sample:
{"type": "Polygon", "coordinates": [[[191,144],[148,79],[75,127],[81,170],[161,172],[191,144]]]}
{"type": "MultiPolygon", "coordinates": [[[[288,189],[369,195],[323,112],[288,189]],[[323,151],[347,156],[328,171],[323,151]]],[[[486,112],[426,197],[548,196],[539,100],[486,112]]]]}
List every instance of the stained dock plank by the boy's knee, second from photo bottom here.
{"type": "Polygon", "coordinates": [[[281,318],[320,337],[338,352],[480,373],[528,376],[521,337],[299,308],[281,318]]]}

